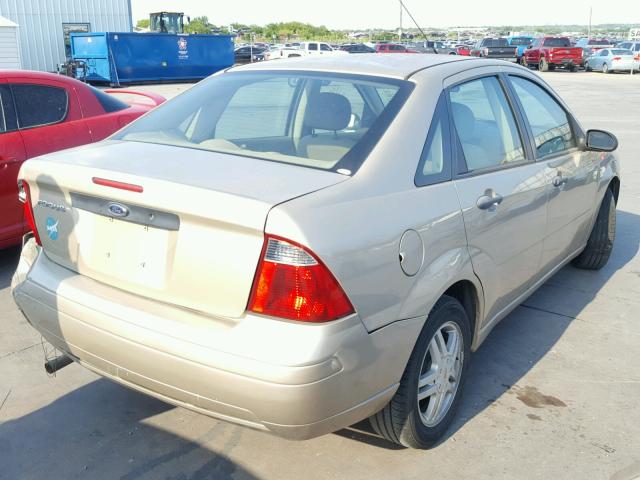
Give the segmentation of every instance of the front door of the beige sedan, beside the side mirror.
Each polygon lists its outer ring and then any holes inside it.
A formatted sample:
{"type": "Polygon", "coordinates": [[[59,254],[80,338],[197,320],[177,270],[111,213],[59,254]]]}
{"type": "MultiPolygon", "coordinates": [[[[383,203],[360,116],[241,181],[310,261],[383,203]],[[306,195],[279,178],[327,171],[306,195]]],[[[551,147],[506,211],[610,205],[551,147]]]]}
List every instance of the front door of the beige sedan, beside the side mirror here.
{"type": "Polygon", "coordinates": [[[578,124],[557,98],[533,78],[509,76],[549,186],[542,270],[583,246],[596,201],[599,154],[578,148],[578,124]]]}

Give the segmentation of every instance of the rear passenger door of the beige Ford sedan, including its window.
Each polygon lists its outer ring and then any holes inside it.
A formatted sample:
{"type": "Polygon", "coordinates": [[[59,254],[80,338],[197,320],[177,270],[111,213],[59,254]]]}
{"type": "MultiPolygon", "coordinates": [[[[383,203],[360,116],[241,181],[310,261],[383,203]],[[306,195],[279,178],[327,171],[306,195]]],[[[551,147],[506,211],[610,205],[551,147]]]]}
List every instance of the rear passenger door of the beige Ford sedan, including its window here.
{"type": "Polygon", "coordinates": [[[492,321],[538,276],[546,177],[544,166],[533,161],[503,79],[495,73],[471,75],[448,91],[458,169],[454,183],[473,268],[485,292],[486,318],[492,321]]]}

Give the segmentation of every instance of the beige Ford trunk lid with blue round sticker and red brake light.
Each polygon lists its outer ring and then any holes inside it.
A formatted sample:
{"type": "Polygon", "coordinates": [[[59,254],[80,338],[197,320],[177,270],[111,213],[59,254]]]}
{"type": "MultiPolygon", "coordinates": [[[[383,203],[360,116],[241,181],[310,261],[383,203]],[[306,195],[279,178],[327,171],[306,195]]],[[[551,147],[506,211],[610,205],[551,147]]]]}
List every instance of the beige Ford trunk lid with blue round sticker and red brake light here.
{"type": "Polygon", "coordinates": [[[246,308],[269,210],[349,178],[137,142],[40,157],[20,175],[30,185],[51,260],[144,297],[224,317],[246,308]]]}

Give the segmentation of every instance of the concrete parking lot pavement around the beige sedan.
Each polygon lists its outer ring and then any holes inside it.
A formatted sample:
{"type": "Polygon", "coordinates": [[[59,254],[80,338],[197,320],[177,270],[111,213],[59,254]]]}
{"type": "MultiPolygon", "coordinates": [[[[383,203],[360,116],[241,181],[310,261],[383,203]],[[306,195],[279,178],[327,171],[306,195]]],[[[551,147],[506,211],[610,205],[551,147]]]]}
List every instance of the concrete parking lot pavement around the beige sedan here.
{"type": "MultiPolygon", "coordinates": [[[[543,74],[586,128],[620,141],[617,239],[566,267],[472,357],[448,438],[402,449],[366,422],[291,442],[128,390],[78,365],[50,378],[0,251],[0,479],[611,479],[640,476],[640,75],[543,74]]],[[[171,97],[188,85],[141,89],[171,97]]]]}

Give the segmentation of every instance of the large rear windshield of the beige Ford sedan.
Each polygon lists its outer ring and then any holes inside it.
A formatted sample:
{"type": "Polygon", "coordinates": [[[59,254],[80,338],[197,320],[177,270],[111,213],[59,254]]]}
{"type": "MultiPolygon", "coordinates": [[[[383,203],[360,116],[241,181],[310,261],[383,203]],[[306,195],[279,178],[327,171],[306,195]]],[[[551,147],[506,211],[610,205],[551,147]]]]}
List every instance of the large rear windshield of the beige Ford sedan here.
{"type": "Polygon", "coordinates": [[[348,175],[362,164],[411,89],[406,81],[359,75],[231,72],[190,88],[114,138],[348,175]]]}

